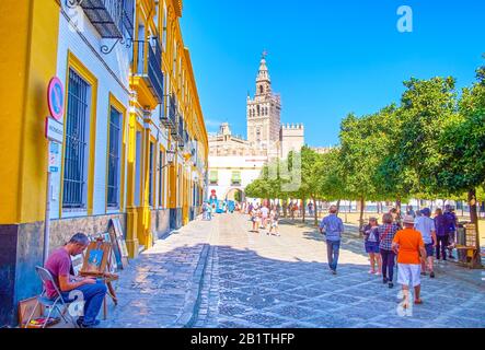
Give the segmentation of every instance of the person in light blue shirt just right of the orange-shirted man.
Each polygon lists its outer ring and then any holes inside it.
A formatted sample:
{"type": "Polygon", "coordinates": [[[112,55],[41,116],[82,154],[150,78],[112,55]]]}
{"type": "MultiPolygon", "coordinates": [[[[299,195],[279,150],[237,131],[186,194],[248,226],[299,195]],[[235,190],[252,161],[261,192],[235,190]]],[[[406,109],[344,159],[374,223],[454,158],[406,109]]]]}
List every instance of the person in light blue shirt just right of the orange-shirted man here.
{"type": "Polygon", "coordinates": [[[419,231],[425,242],[426,258],[422,259],[422,275],[426,276],[429,270],[429,276],[435,278],[435,248],[437,246],[435,220],[431,219],[431,210],[425,208],[422,210],[423,217],[415,219],[414,228],[419,231]]]}

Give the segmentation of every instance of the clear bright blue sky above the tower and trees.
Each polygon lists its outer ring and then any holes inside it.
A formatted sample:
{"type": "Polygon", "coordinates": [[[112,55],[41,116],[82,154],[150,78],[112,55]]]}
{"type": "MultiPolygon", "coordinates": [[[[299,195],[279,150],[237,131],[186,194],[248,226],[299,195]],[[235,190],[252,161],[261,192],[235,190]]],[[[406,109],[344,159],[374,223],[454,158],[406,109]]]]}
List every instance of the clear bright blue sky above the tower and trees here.
{"type": "Polygon", "coordinates": [[[303,122],[307,143],[338,143],[348,113],[399,102],[404,80],[453,75],[474,81],[485,60],[482,0],[184,0],[182,30],[192,52],[209,131],[229,121],[245,136],[266,49],[282,122],[303,122]],[[397,9],[413,9],[413,33],[400,33],[397,9]]]}

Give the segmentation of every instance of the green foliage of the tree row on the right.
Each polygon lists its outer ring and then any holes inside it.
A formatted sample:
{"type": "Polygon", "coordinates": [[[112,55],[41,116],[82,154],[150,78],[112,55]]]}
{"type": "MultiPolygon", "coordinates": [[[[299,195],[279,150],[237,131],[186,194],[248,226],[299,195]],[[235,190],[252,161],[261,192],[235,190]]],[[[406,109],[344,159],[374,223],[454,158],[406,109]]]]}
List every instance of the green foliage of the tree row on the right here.
{"type": "MultiPolygon", "coordinates": [[[[282,190],[297,153],[266,166],[246,188],[255,198],[333,201],[463,198],[485,183],[485,67],[458,101],[453,78],[411,79],[401,105],[349,114],[340,147],[317,154],[304,147],[301,186],[282,190]],[[273,176],[268,176],[273,175],[273,176]]],[[[480,197],[480,196],[478,196],[480,197]]]]}

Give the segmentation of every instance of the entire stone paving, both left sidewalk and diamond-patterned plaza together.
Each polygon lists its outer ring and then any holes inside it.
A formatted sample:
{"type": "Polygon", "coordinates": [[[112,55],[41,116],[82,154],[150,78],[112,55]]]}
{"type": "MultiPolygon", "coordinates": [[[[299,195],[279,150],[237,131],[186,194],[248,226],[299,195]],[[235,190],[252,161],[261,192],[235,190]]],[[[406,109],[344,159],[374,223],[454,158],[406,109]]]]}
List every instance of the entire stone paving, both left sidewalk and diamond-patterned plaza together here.
{"type": "MultiPolygon", "coordinates": [[[[354,228],[348,228],[351,231],[354,228]]],[[[282,224],[281,237],[250,233],[247,217],[196,221],[146,252],[117,285],[102,327],[485,327],[481,271],[453,264],[425,279],[413,315],[399,291],[368,273],[362,243],[346,234],[338,276],[313,229],[282,224]]]]}

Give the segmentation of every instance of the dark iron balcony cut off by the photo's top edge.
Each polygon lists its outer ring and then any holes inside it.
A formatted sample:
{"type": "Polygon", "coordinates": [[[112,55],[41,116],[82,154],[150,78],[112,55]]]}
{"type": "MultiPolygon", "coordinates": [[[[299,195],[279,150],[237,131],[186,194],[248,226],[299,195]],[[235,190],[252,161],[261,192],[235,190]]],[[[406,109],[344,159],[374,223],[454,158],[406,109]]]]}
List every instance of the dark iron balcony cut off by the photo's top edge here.
{"type": "Polygon", "coordinates": [[[79,2],[103,38],[123,38],[124,0],[83,0],[79,2]]]}

